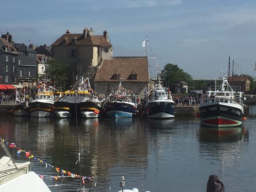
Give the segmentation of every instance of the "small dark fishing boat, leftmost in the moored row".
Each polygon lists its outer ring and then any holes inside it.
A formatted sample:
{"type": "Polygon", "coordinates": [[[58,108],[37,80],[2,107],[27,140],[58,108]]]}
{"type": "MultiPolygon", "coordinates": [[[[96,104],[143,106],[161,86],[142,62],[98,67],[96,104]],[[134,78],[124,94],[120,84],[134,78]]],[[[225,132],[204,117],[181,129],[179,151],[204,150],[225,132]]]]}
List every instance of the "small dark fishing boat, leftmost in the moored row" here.
{"type": "Polygon", "coordinates": [[[28,107],[28,102],[30,98],[28,95],[19,93],[16,89],[16,98],[15,98],[15,104],[12,107],[12,113],[15,116],[29,116],[30,110],[28,107]]]}

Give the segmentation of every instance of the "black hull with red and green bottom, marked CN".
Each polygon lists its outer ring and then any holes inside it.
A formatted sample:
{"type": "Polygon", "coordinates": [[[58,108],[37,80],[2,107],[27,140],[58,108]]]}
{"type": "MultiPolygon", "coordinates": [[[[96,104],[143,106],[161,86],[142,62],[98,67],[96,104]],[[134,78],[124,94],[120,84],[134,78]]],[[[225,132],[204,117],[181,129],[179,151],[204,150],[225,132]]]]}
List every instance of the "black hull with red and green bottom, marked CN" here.
{"type": "Polygon", "coordinates": [[[199,106],[200,123],[210,127],[235,127],[243,123],[243,107],[231,103],[203,103],[199,106]]]}

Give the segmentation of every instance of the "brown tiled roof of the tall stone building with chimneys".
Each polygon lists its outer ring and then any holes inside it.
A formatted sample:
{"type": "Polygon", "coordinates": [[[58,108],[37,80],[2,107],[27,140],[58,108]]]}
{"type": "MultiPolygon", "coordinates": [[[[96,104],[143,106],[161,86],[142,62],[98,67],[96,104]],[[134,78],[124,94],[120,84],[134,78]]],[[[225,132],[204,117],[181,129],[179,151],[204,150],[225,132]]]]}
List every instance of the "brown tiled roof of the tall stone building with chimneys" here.
{"type": "Polygon", "coordinates": [[[65,45],[72,45],[72,39],[75,37],[77,37],[76,45],[99,45],[101,47],[112,47],[112,45],[105,39],[103,35],[89,35],[83,39],[83,33],[64,34],[53,44],[51,44],[51,46],[62,45],[62,40],[65,38],[67,38],[67,43],[65,45]]]}

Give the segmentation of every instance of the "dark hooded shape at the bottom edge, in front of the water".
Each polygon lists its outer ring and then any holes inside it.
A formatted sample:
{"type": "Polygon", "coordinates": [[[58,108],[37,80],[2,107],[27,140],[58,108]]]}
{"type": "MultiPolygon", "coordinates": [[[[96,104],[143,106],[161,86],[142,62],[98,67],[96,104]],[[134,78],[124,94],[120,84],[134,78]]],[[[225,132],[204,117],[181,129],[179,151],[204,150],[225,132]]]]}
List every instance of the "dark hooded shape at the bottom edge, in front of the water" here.
{"type": "Polygon", "coordinates": [[[219,179],[218,175],[210,175],[206,192],[225,192],[224,184],[219,179]]]}

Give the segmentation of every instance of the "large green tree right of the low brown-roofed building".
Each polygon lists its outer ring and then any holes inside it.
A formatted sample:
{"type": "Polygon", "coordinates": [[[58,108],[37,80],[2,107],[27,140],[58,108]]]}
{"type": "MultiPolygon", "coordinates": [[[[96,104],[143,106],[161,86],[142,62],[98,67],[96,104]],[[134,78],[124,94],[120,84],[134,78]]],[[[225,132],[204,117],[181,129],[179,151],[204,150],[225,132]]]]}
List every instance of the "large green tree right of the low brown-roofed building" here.
{"type": "Polygon", "coordinates": [[[164,86],[172,85],[177,81],[185,81],[189,85],[192,84],[192,77],[180,69],[177,65],[167,63],[162,70],[162,76],[165,81],[163,81],[164,86]],[[165,85],[166,83],[166,85],[165,85]]]}

